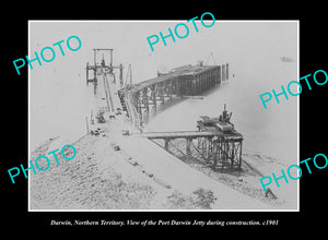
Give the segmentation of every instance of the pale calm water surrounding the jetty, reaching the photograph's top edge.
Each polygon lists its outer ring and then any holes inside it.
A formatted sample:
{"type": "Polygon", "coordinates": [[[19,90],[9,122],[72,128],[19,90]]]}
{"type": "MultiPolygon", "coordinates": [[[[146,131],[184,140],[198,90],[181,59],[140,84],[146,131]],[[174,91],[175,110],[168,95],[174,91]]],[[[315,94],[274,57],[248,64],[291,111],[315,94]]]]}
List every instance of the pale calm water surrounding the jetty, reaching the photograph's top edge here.
{"type": "MultiPolygon", "coordinates": [[[[179,21],[180,22],[180,21],[179,21]]],[[[231,79],[204,94],[204,99],[172,103],[150,118],[152,131],[195,130],[200,115],[215,117],[233,111],[232,121],[244,134],[244,147],[286,160],[296,158],[296,97],[269,103],[259,95],[279,89],[297,77],[297,28],[283,22],[219,22],[200,28],[185,39],[152,52],[145,37],[174,27],[177,22],[34,22],[30,24],[30,51],[40,51],[69,36],[79,36],[82,48],[56,56],[49,63],[30,71],[30,145],[34,149],[48,137],[78,139],[86,132],[85,117],[96,105],[92,87],[85,85],[85,64],[93,61],[92,48],[114,48],[114,63],[132,65],[133,82],[163,71],[207,61],[213,52],[219,64],[230,63],[231,79]],[[282,62],[288,56],[293,62],[282,62]],[[235,77],[232,77],[235,74],[235,77]]],[[[65,47],[65,46],[63,46],[65,47]]],[[[108,56],[104,56],[108,58],[108,56]]],[[[99,59],[97,59],[99,61],[99,59]]],[[[209,62],[213,64],[213,62],[209,62]]],[[[126,79],[127,72],[124,72],[126,79]]],[[[118,75],[117,75],[118,76],[118,75]]]]}

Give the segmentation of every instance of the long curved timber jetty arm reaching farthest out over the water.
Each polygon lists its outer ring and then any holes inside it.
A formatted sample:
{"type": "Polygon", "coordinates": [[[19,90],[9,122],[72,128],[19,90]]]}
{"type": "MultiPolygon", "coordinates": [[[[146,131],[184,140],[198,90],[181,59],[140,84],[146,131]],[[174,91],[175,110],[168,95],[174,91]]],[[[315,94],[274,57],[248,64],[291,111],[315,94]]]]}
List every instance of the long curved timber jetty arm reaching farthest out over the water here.
{"type": "Polygon", "coordinates": [[[156,107],[165,98],[195,96],[220,84],[229,76],[227,65],[184,65],[169,73],[159,73],[157,77],[128,85],[118,92],[122,108],[127,110],[126,96],[130,95],[139,118],[142,118],[142,112],[149,112],[150,106],[156,107]]]}

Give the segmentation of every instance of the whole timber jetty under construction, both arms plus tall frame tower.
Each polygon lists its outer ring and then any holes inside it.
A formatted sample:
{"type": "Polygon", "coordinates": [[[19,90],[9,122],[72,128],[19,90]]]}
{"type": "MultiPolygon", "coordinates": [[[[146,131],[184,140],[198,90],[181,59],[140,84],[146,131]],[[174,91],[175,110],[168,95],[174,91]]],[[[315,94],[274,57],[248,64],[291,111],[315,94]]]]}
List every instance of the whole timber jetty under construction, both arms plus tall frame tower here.
{"type": "MultiPolygon", "coordinates": [[[[86,64],[86,84],[94,84],[94,93],[98,85],[98,79],[103,79],[105,92],[105,107],[101,108],[101,116],[108,113],[108,119],[115,115],[125,112],[139,134],[149,140],[162,140],[163,148],[169,152],[169,142],[176,139],[185,140],[185,155],[195,152],[203,159],[204,164],[213,169],[241,169],[243,135],[231,123],[231,115],[225,106],[219,118],[201,117],[198,121],[198,130],[184,132],[144,132],[142,116],[175,97],[198,96],[202,92],[213,88],[222,81],[229,80],[229,63],[221,65],[206,65],[200,62],[197,65],[183,65],[168,73],[157,72],[157,76],[143,82],[131,81],[131,67],[128,75],[130,81],[122,79],[122,64],[113,64],[113,49],[94,49],[94,64],[86,64]],[[96,62],[97,55],[109,52],[109,63],[106,64],[104,55],[101,63],[96,62]],[[119,83],[116,83],[115,70],[119,70],[119,83]],[[93,71],[90,79],[89,72],[93,71]],[[113,83],[107,76],[113,76],[113,83]],[[118,87],[117,87],[118,86],[118,87]]],[[[219,105],[220,106],[220,105],[219,105]]],[[[223,103],[221,104],[223,106],[223,103]]],[[[210,113],[210,112],[209,112],[210,113]]],[[[124,134],[130,134],[124,132],[124,134]]]]}

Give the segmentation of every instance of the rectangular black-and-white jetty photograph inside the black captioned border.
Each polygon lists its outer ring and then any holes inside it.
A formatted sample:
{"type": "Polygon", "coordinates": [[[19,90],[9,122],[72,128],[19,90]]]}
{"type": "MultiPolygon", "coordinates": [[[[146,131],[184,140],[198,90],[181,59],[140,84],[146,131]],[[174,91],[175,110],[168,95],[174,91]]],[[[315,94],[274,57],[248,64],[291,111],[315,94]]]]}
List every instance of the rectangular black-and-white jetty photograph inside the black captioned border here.
{"type": "Polygon", "coordinates": [[[298,22],[194,23],[28,23],[30,211],[298,209],[298,22]]]}

